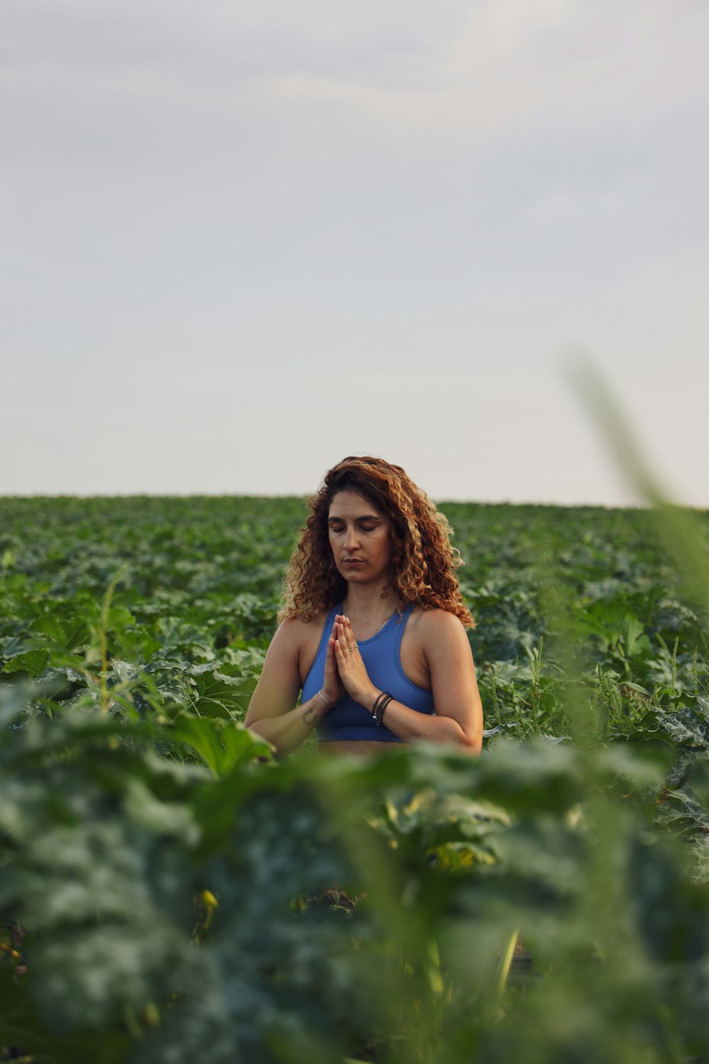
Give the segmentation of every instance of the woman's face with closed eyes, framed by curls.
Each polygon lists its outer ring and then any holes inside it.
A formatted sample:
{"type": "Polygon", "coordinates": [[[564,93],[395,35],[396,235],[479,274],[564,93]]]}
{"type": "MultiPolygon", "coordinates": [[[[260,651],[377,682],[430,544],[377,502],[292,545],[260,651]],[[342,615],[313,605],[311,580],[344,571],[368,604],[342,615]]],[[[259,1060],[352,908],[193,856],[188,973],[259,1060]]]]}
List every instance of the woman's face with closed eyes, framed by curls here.
{"type": "Polygon", "coordinates": [[[381,582],[391,563],[391,521],[357,492],[333,496],[327,517],[330,546],[348,583],[381,582]]]}

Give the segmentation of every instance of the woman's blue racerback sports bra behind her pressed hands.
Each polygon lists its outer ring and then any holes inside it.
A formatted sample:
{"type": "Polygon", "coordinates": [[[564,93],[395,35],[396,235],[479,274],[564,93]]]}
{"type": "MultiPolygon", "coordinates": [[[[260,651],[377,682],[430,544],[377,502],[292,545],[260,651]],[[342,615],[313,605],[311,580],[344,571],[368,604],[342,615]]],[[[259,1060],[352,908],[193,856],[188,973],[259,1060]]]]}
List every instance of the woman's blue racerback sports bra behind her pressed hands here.
{"type": "MultiPolygon", "coordinates": [[[[379,691],[388,691],[396,702],[402,702],[418,713],[434,714],[434,696],[431,691],[417,686],[406,676],[401,664],[401,641],[406,621],[415,603],[389,617],[384,628],[371,639],[359,639],[357,646],[367,667],[369,678],[379,691]]],[[[303,684],[302,702],[309,701],[322,687],[325,674],[327,639],[333,631],[335,615],[342,612],[342,603],[334,605],[327,614],[320,637],[318,653],[303,684]]],[[[328,710],[317,727],[318,743],[337,739],[376,739],[381,743],[401,743],[402,739],[384,725],[374,724],[371,713],[345,695],[333,710],[328,710]]]]}

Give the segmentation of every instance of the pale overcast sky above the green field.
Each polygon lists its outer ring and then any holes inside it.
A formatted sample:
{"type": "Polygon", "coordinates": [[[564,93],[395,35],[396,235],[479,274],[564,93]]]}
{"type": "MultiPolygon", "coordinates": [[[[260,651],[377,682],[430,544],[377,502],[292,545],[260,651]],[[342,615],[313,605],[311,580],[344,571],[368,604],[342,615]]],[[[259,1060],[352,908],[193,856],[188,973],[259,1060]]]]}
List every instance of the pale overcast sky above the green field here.
{"type": "Polygon", "coordinates": [[[709,506],[706,0],[3,0],[0,494],[709,506]]]}

